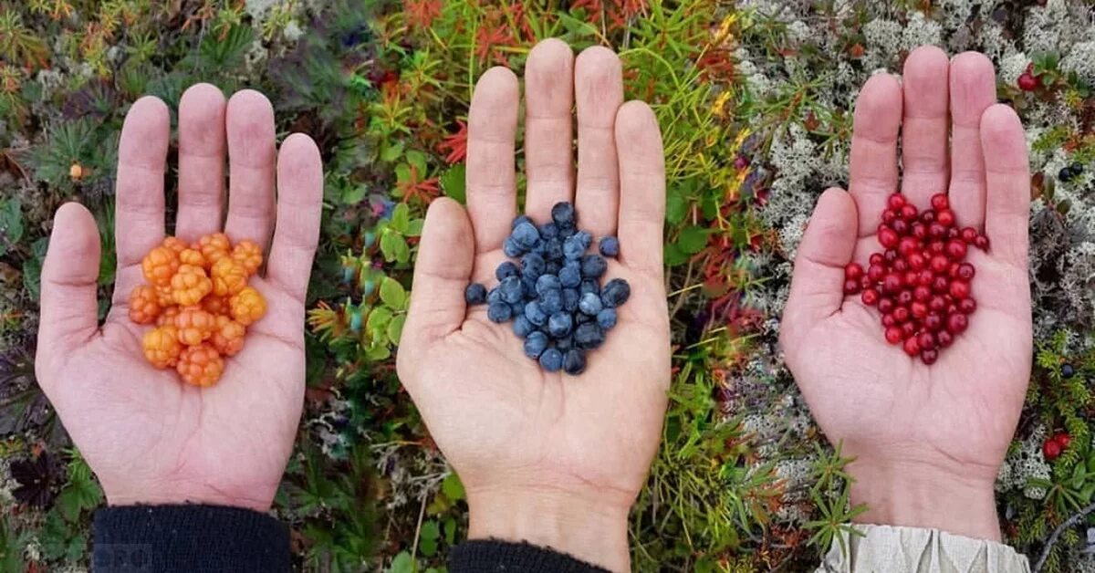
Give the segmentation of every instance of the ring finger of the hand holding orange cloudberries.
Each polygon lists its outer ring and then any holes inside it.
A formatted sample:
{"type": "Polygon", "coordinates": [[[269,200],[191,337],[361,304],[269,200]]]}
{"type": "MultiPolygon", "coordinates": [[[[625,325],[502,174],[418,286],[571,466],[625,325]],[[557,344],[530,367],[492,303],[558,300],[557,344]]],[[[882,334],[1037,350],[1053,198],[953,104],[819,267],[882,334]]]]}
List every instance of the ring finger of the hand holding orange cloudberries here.
{"type": "Polygon", "coordinates": [[[232,241],[250,239],[266,251],[274,229],[274,106],[243,90],[228,101],[228,220],[232,241]]]}

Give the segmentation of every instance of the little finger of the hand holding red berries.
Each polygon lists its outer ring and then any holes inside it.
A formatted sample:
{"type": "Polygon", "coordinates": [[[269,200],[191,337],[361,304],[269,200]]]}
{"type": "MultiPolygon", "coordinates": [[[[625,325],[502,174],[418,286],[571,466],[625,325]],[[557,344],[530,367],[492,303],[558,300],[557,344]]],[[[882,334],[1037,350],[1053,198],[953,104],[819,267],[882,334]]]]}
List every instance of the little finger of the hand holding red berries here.
{"type": "Polygon", "coordinates": [[[1003,104],[989,106],[981,115],[989,187],[984,231],[993,256],[1025,272],[1030,217],[1030,167],[1023,124],[1015,111],[1003,104]]]}

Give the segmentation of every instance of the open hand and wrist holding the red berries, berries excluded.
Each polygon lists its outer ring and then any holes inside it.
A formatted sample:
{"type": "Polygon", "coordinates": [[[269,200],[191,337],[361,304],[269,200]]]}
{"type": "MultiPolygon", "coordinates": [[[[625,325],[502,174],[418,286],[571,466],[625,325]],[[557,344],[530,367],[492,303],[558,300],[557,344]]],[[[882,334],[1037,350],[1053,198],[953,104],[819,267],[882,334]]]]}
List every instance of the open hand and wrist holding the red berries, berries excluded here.
{"type": "Polygon", "coordinates": [[[856,458],[852,502],[868,505],[864,523],[1000,538],[993,481],[1030,376],[1030,176],[1023,126],[995,93],[988,58],[948,62],[934,47],[908,57],[903,88],[871,78],[855,107],[851,194],[826,191],[798,249],[782,343],[818,424],[856,458]],[[866,267],[880,250],[875,229],[898,188],[899,128],[901,193],[925,208],[947,192],[958,225],[991,242],[988,253],[969,251],[978,303],[969,329],[932,366],[887,344],[877,310],[841,286],[845,264],[866,267]]]}

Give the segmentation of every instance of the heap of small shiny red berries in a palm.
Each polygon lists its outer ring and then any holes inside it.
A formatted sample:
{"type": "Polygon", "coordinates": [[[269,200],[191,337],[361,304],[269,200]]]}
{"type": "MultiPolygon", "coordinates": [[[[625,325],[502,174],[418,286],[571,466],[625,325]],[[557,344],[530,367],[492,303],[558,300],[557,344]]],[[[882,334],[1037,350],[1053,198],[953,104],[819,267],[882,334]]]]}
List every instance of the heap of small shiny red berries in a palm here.
{"type": "Polygon", "coordinates": [[[976,271],[966,254],[969,247],[988,250],[989,239],[972,227],[959,229],[944,194],[920,211],[895,193],[881,219],[878,243],[885,251],[872,254],[865,271],[858,263],[844,267],[844,294],[878,308],[887,342],[933,364],[977,310],[970,296],[976,271]]]}

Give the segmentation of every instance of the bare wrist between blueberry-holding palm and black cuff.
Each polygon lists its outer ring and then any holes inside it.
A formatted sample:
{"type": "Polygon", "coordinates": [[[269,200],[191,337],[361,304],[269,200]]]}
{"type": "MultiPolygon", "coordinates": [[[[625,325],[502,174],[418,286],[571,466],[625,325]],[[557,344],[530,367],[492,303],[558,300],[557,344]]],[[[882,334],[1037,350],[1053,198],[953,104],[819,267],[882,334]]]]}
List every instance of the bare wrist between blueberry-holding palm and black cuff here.
{"type": "Polygon", "coordinates": [[[609,571],[630,571],[630,507],[573,492],[469,490],[469,539],[526,541],[609,571]]]}

